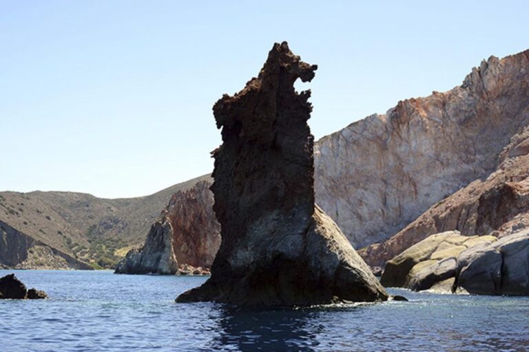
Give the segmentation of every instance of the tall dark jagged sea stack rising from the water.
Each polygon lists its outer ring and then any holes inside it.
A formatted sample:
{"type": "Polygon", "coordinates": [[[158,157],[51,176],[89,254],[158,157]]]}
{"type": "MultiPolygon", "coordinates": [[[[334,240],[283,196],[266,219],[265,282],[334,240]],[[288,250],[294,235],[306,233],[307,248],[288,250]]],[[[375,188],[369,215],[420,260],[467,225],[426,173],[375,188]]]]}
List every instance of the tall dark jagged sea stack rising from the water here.
{"type": "Polygon", "coordinates": [[[222,243],[204,285],[177,302],[313,305],[386,300],[351,243],[314,203],[308,82],[316,65],[276,43],[258,78],[214,105],[214,211],[222,243]]]}

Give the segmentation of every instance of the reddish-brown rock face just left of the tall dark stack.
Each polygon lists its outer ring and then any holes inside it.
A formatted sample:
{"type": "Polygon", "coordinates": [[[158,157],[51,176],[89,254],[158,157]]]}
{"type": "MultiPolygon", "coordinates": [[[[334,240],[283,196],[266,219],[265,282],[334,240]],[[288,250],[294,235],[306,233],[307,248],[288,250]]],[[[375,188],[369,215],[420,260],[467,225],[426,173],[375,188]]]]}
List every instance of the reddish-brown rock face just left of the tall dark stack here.
{"type": "Polygon", "coordinates": [[[220,247],[220,224],[213,212],[209,182],[176,192],[165,210],[173,228],[173,249],[180,265],[211,267],[220,247]]]}

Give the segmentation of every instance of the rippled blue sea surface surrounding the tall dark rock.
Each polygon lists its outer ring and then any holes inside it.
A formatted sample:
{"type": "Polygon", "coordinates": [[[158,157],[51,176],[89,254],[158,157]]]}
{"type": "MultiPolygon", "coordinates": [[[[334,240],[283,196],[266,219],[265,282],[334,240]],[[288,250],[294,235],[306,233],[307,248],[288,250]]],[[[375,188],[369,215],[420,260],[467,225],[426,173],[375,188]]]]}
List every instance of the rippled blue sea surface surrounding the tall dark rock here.
{"type": "Polygon", "coordinates": [[[176,304],[202,277],[17,271],[48,300],[0,300],[0,351],[529,351],[529,298],[391,290],[411,302],[268,311],[176,304]]]}

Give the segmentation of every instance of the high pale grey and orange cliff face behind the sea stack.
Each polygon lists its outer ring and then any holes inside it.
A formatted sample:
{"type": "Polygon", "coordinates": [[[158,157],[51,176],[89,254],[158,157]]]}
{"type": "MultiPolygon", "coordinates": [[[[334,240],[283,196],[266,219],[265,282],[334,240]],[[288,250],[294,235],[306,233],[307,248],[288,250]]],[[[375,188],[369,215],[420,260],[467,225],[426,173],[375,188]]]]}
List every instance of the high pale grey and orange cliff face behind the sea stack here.
{"type": "Polygon", "coordinates": [[[353,245],[384,241],[494,171],[528,124],[528,104],[529,50],[491,56],[459,87],[403,100],[323,137],[315,146],[316,201],[353,245]]]}

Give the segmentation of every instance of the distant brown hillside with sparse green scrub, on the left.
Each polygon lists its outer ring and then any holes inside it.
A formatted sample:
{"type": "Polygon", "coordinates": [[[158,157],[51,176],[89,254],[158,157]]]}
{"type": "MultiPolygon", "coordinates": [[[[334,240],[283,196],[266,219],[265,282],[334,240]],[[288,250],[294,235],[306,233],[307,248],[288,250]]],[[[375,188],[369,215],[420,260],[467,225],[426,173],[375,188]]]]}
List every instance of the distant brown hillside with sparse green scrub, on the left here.
{"type": "Polygon", "coordinates": [[[143,243],[174,192],[203,179],[210,177],[129,199],[101,199],[76,192],[0,192],[0,221],[73,259],[110,267],[129,247],[143,243]]]}

